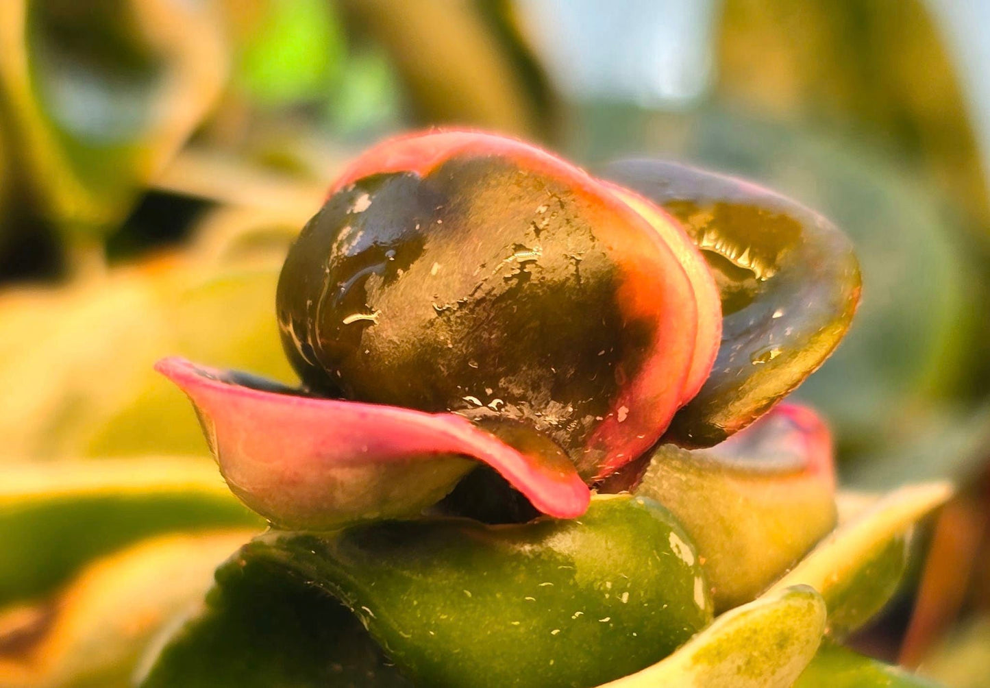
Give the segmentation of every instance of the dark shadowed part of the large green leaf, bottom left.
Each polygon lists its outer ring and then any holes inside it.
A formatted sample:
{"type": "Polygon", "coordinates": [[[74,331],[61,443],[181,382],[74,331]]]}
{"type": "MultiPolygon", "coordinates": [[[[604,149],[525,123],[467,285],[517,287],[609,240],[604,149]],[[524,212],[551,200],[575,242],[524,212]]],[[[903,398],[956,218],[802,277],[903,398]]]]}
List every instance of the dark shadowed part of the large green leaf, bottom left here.
{"type": "Polygon", "coordinates": [[[198,613],[149,648],[142,688],[411,688],[333,596],[280,563],[235,556],[198,613]]]}

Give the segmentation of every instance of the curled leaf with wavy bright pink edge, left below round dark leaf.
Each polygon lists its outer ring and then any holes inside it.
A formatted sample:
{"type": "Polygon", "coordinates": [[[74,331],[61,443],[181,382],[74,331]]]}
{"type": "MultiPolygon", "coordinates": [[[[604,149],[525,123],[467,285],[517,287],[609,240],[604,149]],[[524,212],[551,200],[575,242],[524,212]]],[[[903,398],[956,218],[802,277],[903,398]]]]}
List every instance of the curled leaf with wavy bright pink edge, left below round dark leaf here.
{"type": "Polygon", "coordinates": [[[588,506],[565,458],[523,453],[454,414],[248,386],[247,376],[177,357],[155,367],[192,400],[231,490],[280,526],[416,514],[471,468],[464,457],[495,468],[550,516],[574,518],[588,506]]]}

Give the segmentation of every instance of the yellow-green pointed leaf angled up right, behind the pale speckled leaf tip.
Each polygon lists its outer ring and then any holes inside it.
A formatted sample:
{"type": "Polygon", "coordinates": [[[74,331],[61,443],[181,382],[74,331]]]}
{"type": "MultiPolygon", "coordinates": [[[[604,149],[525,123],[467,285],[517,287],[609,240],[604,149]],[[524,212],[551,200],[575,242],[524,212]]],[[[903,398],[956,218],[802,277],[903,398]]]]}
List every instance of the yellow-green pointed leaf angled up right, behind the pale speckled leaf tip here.
{"type": "Polygon", "coordinates": [[[830,634],[862,626],[896,591],[912,526],[951,494],[943,482],[892,492],[821,541],[770,590],[811,585],[829,605],[830,634]]]}

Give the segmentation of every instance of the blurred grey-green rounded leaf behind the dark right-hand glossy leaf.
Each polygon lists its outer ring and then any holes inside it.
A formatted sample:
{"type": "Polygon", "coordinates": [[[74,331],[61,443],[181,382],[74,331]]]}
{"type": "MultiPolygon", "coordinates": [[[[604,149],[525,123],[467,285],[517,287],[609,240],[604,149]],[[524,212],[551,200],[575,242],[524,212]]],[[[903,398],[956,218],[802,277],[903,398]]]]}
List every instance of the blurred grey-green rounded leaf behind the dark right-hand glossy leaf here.
{"type": "MultiPolygon", "coordinates": [[[[814,20],[799,15],[793,18],[807,22],[811,30],[814,20]]],[[[812,131],[790,122],[743,117],[736,110],[654,115],[639,125],[640,131],[659,132],[657,141],[666,146],[662,154],[763,180],[821,211],[852,240],[864,285],[855,325],[795,392],[825,414],[844,451],[876,450],[905,440],[904,448],[912,450],[908,435],[933,401],[957,393],[960,384],[972,393],[986,387],[974,375],[987,359],[986,338],[974,340],[972,330],[990,318],[974,298],[979,290],[969,286],[976,279],[968,264],[972,251],[967,254],[955,241],[966,228],[943,212],[944,200],[909,160],[870,145],[868,139],[849,138],[846,129],[812,131]]],[[[617,135],[636,131],[633,123],[609,129],[617,135]]],[[[614,155],[609,150],[623,146],[636,149],[632,142],[614,142],[603,145],[598,155],[614,155]]],[[[908,460],[893,447],[891,458],[901,471],[928,463],[922,453],[908,460]]],[[[936,466],[954,458],[948,451],[930,460],[936,466]]],[[[874,483],[885,488],[932,479],[896,477],[899,472],[889,467],[877,472],[895,476],[874,483]]]]}

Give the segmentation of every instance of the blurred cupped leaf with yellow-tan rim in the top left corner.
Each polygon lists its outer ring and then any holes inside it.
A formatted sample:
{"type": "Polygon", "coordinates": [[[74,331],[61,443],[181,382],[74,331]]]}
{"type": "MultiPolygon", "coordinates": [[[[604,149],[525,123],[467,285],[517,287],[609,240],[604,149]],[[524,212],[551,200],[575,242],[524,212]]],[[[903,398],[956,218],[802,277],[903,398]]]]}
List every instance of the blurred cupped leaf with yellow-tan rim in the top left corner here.
{"type": "Polygon", "coordinates": [[[0,106],[16,154],[43,214],[84,238],[124,216],[226,71],[210,3],[0,3],[0,106]]]}

